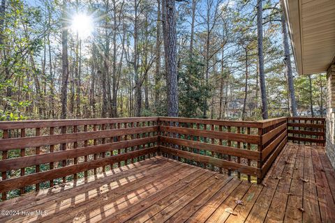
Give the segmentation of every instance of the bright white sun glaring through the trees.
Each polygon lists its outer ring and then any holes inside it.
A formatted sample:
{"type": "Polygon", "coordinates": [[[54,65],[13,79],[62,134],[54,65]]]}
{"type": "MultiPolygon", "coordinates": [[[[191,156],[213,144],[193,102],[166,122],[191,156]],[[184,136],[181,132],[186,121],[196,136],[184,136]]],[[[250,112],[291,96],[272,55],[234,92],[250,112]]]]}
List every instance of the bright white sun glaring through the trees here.
{"type": "Polygon", "coordinates": [[[77,14],[73,16],[71,22],[71,30],[78,33],[80,38],[87,38],[91,36],[94,30],[93,18],[85,14],[77,14]]]}

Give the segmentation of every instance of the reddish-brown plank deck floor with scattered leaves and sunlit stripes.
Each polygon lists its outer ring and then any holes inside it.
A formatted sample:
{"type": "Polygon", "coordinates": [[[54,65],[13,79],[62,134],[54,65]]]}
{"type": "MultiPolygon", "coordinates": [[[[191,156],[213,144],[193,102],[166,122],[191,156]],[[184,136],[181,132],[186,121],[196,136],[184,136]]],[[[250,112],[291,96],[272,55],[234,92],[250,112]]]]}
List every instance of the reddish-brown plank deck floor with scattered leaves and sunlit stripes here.
{"type": "Polygon", "coordinates": [[[334,201],[324,148],[288,144],[262,185],[151,157],[3,201],[20,212],[0,222],[335,222],[334,201]]]}

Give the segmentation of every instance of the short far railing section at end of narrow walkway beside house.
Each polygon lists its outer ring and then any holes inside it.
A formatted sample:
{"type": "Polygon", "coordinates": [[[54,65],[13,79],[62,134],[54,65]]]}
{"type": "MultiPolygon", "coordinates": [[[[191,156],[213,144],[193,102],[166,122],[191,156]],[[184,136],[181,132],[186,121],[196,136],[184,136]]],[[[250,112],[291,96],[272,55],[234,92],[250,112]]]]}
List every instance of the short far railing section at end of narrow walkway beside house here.
{"type": "Polygon", "coordinates": [[[294,143],[325,146],[325,118],[288,118],[288,140],[294,143]]]}

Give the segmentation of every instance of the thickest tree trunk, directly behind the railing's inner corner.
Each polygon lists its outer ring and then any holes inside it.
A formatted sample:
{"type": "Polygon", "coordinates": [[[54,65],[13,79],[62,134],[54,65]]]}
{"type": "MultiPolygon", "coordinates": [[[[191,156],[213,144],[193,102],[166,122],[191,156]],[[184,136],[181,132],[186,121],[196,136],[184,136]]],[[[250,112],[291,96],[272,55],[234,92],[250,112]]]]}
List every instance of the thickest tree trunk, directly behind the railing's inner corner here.
{"type": "Polygon", "coordinates": [[[168,116],[178,116],[177,33],[175,0],[165,1],[165,70],[167,72],[168,116]]]}

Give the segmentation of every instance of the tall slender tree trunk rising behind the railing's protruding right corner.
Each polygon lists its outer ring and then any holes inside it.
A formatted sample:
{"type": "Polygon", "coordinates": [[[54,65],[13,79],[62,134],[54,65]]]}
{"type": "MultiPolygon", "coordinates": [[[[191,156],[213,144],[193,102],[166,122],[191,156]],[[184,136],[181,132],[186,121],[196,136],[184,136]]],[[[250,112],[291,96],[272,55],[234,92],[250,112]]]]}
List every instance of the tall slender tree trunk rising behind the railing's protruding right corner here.
{"type": "Polygon", "coordinates": [[[257,1],[257,45],[258,45],[258,67],[260,69],[260,94],[262,98],[262,118],[268,118],[267,112],[267,89],[265,87],[264,57],[263,57],[263,9],[262,0],[257,1]]]}

